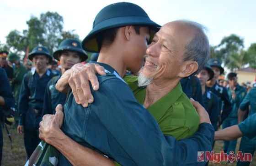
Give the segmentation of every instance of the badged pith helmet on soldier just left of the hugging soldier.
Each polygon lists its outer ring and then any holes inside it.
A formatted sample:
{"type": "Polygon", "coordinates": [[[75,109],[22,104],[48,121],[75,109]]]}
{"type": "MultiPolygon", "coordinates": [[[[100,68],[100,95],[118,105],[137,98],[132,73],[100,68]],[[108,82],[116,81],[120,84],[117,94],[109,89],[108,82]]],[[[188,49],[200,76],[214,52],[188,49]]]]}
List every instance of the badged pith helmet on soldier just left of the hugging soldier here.
{"type": "Polygon", "coordinates": [[[59,60],[59,53],[63,50],[68,50],[68,51],[75,51],[78,52],[81,56],[81,62],[85,61],[88,56],[85,53],[85,50],[82,49],[81,43],[78,40],[75,39],[65,39],[59,44],[58,50],[56,50],[53,53],[53,57],[56,60],[59,60]]]}

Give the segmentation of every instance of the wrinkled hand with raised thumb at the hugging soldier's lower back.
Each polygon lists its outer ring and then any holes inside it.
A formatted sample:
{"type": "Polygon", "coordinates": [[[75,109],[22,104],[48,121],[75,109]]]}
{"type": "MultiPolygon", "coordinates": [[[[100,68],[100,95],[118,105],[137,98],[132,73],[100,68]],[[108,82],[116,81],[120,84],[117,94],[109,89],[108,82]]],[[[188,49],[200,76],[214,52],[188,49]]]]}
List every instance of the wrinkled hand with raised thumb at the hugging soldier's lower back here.
{"type": "Polygon", "coordinates": [[[48,144],[51,144],[54,137],[58,137],[58,131],[61,131],[60,127],[63,123],[63,106],[59,104],[55,110],[55,115],[44,115],[39,124],[39,138],[48,144]]]}

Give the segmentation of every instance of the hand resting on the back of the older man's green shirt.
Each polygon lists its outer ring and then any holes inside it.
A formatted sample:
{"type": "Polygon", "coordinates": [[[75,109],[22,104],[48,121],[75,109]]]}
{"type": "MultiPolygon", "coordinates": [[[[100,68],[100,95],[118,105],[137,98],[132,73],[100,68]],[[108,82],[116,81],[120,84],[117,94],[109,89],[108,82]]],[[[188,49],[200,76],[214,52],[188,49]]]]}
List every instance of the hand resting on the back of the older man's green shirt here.
{"type": "Polygon", "coordinates": [[[190,98],[190,101],[192,102],[192,105],[197,110],[197,113],[198,113],[199,118],[200,118],[199,123],[201,124],[201,123],[206,122],[206,123],[212,124],[211,121],[210,121],[208,112],[204,109],[204,107],[201,104],[199,104],[197,101],[194,101],[194,99],[192,99],[192,98],[190,98]]]}

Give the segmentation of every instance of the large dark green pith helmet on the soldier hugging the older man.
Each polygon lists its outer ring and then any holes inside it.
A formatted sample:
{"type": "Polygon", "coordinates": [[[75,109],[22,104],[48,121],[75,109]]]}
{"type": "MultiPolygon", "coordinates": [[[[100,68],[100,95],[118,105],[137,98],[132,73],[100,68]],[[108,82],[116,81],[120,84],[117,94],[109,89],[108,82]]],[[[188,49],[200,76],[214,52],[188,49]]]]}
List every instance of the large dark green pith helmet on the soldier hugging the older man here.
{"type": "Polygon", "coordinates": [[[98,52],[96,35],[107,29],[127,25],[148,26],[150,41],[160,29],[160,25],[149,19],[147,13],[138,5],[128,2],[119,2],[104,7],[95,17],[91,32],[82,41],[82,48],[89,52],[98,52]]]}

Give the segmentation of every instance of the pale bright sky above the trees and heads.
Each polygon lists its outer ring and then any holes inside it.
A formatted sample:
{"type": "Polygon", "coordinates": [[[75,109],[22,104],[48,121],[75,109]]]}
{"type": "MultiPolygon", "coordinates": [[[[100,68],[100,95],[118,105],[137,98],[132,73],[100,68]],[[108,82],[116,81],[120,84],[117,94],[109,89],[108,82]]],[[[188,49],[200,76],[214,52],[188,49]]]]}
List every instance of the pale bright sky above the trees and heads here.
{"type": "MultiPolygon", "coordinates": [[[[123,0],[121,0],[123,1],[123,0]]],[[[140,5],[160,25],[179,19],[196,21],[208,28],[211,45],[236,34],[245,48],[256,43],[256,0],[126,0],[140,5]]],[[[92,29],[96,14],[120,0],[0,0],[0,42],[11,30],[27,29],[31,15],[47,11],[64,18],[64,30],[75,30],[82,40],[92,29]]]]}

